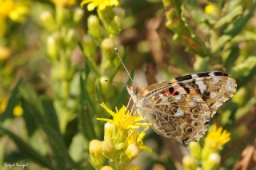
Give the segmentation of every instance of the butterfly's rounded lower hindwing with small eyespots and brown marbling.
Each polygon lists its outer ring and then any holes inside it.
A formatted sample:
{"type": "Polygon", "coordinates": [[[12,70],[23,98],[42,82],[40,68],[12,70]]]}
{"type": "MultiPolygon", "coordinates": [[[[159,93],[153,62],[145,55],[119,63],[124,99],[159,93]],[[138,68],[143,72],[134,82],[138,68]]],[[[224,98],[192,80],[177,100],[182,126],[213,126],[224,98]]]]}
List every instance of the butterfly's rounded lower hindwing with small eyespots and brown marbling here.
{"type": "Polygon", "coordinates": [[[154,95],[154,107],[143,110],[156,132],[173,137],[182,144],[198,141],[206,132],[210,121],[210,109],[201,97],[181,94],[168,97],[154,95]]]}

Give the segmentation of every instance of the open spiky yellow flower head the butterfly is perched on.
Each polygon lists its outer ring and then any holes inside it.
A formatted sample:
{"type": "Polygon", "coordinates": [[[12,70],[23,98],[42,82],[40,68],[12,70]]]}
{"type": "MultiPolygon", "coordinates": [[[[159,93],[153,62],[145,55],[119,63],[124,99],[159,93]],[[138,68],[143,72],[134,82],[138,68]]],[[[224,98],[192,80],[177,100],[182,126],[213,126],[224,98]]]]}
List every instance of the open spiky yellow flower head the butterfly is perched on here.
{"type": "Polygon", "coordinates": [[[106,112],[110,113],[113,119],[106,118],[98,118],[100,121],[108,121],[112,125],[116,125],[117,128],[139,128],[141,126],[147,127],[150,123],[142,123],[142,117],[136,117],[134,115],[130,115],[130,111],[126,108],[126,106],[122,106],[121,109],[115,109],[115,113],[108,108],[104,103],[101,104],[102,108],[106,109],[106,112]]]}

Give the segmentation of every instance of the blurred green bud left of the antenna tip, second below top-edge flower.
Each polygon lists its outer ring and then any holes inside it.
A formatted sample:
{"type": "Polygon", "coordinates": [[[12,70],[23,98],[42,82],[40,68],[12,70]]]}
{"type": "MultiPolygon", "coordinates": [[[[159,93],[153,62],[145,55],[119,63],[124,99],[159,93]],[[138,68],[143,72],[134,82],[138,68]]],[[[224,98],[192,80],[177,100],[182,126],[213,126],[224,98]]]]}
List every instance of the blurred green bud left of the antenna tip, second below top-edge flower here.
{"type": "Polygon", "coordinates": [[[90,61],[94,61],[96,57],[96,45],[94,44],[93,38],[91,38],[88,34],[85,35],[82,39],[82,45],[86,57],[89,57],[90,61]]]}

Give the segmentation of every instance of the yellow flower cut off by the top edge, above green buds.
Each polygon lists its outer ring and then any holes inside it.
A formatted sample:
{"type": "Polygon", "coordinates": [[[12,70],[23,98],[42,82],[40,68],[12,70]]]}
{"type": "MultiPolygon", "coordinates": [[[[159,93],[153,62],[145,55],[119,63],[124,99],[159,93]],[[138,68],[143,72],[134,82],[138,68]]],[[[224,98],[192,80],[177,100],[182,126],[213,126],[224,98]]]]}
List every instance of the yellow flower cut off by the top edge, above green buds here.
{"type": "Polygon", "coordinates": [[[89,11],[98,7],[98,10],[105,10],[107,6],[119,6],[118,0],[82,0],[81,6],[89,3],[87,9],[89,11]]]}

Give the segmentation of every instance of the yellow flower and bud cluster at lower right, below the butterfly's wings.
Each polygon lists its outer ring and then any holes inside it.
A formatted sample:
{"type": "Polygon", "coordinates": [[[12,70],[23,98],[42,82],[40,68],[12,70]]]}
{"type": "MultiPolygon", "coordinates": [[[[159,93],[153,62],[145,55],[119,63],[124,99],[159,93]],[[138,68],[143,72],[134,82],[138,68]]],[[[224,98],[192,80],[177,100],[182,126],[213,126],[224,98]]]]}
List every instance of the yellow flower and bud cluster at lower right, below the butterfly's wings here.
{"type": "Polygon", "coordinates": [[[218,128],[213,125],[206,136],[203,148],[198,142],[189,144],[191,156],[183,158],[184,169],[196,170],[199,167],[205,170],[218,169],[221,162],[221,156],[218,152],[222,150],[222,147],[228,141],[230,141],[230,132],[223,130],[222,127],[218,128]]]}

